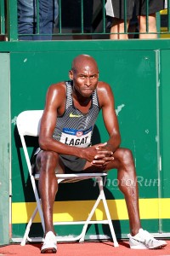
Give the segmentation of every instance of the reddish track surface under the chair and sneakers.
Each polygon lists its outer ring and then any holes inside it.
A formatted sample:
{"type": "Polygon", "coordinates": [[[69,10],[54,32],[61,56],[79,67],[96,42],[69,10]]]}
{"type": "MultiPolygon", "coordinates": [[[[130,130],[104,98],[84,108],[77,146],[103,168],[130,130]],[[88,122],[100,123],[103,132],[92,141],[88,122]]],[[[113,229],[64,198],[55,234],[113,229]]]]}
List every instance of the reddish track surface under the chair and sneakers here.
{"type": "MultiPolygon", "coordinates": [[[[132,250],[128,246],[127,241],[118,241],[119,247],[113,247],[111,241],[101,242],[83,242],[83,243],[59,243],[57,254],[45,254],[56,256],[170,256],[170,241],[167,241],[167,247],[157,250],[132,250]]],[[[0,247],[0,256],[37,256],[42,255],[40,253],[40,247],[38,244],[26,244],[21,247],[20,244],[11,244],[5,247],[0,247]]]]}

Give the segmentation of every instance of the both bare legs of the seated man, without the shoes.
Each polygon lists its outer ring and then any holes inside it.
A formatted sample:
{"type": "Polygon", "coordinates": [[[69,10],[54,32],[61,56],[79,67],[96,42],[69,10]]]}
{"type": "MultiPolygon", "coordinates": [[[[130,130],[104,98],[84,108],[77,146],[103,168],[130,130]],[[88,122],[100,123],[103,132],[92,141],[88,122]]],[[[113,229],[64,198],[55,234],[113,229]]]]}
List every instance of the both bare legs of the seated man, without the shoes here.
{"type": "MultiPolygon", "coordinates": [[[[139,195],[136,172],[133,163],[133,155],[126,148],[118,148],[114,153],[114,160],[111,161],[105,170],[117,169],[117,178],[119,188],[125,196],[127,203],[127,212],[131,234],[134,236],[138,233],[141,225],[139,219],[139,195]]],[[[39,192],[42,200],[42,211],[44,215],[45,230],[54,232],[53,225],[53,207],[55,195],[58,190],[58,183],[55,177],[56,166],[60,173],[63,173],[59,156],[54,152],[41,152],[37,155],[37,166],[40,171],[38,183],[39,192]]],[[[87,163],[84,172],[99,172],[99,168],[87,163]]],[[[100,168],[101,171],[104,169],[100,168]]]]}

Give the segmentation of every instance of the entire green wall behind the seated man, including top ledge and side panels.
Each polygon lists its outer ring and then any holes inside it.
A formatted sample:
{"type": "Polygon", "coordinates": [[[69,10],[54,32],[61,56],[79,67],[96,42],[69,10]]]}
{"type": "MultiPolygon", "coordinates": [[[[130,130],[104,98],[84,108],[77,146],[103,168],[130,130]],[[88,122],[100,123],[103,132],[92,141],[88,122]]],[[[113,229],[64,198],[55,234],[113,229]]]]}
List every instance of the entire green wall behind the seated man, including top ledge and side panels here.
{"type": "MultiPolygon", "coordinates": [[[[15,119],[26,109],[43,108],[48,86],[68,79],[71,61],[79,54],[94,56],[99,63],[99,79],[111,84],[122,133],[122,147],[133,151],[140,199],[170,197],[168,40],[7,42],[0,43],[0,46],[2,52],[9,52],[10,58],[13,203],[34,201],[15,119]]],[[[97,121],[96,134],[95,142],[105,142],[108,138],[101,115],[97,121]]],[[[105,186],[107,199],[122,200],[123,196],[114,183],[116,170],[109,173],[108,179],[111,183],[105,186]]],[[[81,191],[82,188],[79,189],[81,191]]],[[[94,199],[92,193],[89,190],[86,195],[82,195],[82,199],[94,199]]],[[[60,193],[58,200],[67,199],[60,193]]],[[[73,194],[71,200],[81,199],[73,194]]],[[[168,218],[153,218],[149,222],[142,219],[142,224],[144,229],[153,233],[167,233],[170,228],[168,218]]],[[[118,236],[129,232],[127,220],[115,221],[115,226],[118,236]]],[[[13,224],[12,236],[22,236],[25,228],[26,224],[13,224]]],[[[67,230],[62,228],[61,233],[65,234],[67,230]]],[[[88,234],[91,232],[88,230],[88,234]]]]}

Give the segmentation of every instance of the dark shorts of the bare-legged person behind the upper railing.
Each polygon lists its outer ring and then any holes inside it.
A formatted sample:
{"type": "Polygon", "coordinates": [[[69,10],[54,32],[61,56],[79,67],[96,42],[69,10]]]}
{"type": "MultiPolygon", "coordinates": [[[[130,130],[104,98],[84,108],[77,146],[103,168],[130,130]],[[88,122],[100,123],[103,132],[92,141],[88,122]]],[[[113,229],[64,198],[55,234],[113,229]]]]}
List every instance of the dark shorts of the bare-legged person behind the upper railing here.
{"type": "Polygon", "coordinates": [[[146,0],[127,0],[127,6],[125,7],[124,0],[111,0],[111,5],[105,4],[106,15],[124,20],[126,14],[127,20],[131,20],[134,8],[137,16],[146,15],[147,10],[150,15],[164,9],[164,2],[164,0],[149,0],[147,7],[146,0]],[[127,9],[126,13],[124,12],[125,8],[127,9]]]}

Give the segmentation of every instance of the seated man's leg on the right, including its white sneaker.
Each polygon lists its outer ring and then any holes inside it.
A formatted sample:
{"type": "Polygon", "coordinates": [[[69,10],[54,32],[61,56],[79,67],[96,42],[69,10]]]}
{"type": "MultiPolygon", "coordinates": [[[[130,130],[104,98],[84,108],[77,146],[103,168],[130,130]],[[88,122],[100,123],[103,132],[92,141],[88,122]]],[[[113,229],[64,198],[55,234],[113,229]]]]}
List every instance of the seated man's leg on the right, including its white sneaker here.
{"type": "MultiPolygon", "coordinates": [[[[131,234],[127,235],[129,238],[129,246],[132,249],[156,249],[167,246],[166,241],[156,240],[148,231],[141,228],[139,217],[139,192],[133,154],[127,148],[118,148],[113,154],[113,157],[114,160],[106,167],[103,167],[103,171],[117,169],[119,189],[124,194],[127,204],[131,232],[131,234]]],[[[86,167],[88,171],[92,168],[92,166],[86,167]]],[[[95,168],[96,172],[99,172],[99,170],[102,171],[102,168],[95,168]]],[[[87,170],[84,171],[86,172],[87,170]]]]}

